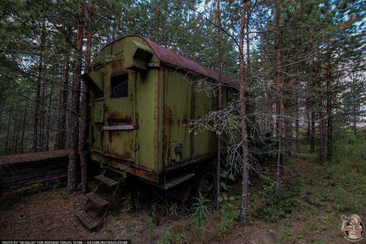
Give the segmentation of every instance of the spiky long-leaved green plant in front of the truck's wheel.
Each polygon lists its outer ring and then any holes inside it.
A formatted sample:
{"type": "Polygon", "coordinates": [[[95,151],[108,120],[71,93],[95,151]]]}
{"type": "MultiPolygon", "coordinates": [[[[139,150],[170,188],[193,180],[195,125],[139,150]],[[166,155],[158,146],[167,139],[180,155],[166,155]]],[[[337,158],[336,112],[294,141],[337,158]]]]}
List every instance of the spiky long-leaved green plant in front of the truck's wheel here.
{"type": "Polygon", "coordinates": [[[191,207],[191,218],[192,223],[194,223],[194,227],[197,229],[198,227],[204,228],[205,222],[210,219],[209,207],[206,205],[210,200],[205,198],[206,195],[201,195],[199,192],[199,197],[194,198],[197,202],[193,203],[191,207]]]}

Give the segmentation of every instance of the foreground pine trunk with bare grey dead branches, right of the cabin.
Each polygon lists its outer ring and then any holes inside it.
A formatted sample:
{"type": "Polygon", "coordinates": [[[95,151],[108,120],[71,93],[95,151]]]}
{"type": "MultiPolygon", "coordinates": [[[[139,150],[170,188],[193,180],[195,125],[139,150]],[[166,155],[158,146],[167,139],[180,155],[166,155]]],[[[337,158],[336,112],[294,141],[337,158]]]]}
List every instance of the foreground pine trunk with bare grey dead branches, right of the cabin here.
{"type": "Polygon", "coordinates": [[[242,0],[242,12],[239,34],[239,72],[240,72],[240,85],[239,85],[239,106],[241,115],[241,131],[242,131],[242,159],[243,159],[243,179],[242,179],[242,202],[240,205],[240,215],[238,220],[238,226],[243,226],[247,218],[248,208],[248,184],[249,184],[249,149],[248,149],[248,132],[247,132],[247,114],[246,114],[246,93],[247,85],[245,84],[245,61],[244,61],[244,28],[246,24],[246,8],[249,1],[242,0]]]}

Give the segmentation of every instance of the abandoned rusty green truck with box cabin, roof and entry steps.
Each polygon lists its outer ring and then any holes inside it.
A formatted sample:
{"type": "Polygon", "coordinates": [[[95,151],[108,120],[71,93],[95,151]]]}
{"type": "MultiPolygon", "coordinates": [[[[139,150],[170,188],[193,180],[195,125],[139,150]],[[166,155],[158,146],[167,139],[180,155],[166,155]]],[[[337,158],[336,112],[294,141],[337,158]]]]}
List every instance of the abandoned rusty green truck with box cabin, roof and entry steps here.
{"type": "MultiPolygon", "coordinates": [[[[92,70],[82,79],[91,91],[88,154],[103,168],[96,179],[119,184],[104,176],[112,170],[161,187],[181,201],[199,191],[212,197],[216,133],[190,133],[184,125],[217,109],[218,97],[202,95],[194,84],[216,82],[218,73],[138,35],[105,46],[92,70]]],[[[225,75],[221,81],[225,103],[239,85],[225,75]]],[[[108,205],[94,194],[96,187],[86,194],[84,210],[76,213],[90,229],[98,223],[85,213],[89,202],[108,205]]]]}

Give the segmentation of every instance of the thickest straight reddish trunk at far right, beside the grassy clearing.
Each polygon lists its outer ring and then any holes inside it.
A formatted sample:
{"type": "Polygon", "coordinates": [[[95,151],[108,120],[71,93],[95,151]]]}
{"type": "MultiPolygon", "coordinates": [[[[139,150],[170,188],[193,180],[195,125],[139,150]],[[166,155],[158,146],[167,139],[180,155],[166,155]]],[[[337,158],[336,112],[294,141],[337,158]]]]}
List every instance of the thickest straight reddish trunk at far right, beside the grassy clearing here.
{"type": "Polygon", "coordinates": [[[332,160],[333,156],[333,138],[332,138],[332,87],[330,84],[330,57],[326,65],[326,115],[327,115],[327,145],[326,145],[326,160],[332,160]]]}

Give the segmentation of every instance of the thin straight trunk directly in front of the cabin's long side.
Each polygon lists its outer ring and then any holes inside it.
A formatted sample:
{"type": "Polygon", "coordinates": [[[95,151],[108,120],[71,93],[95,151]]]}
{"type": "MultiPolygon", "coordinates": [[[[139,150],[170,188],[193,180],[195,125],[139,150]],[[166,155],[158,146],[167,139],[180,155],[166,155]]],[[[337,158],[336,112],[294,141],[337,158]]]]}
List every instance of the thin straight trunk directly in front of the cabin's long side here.
{"type": "MultiPolygon", "coordinates": [[[[217,25],[220,26],[220,0],[217,0],[217,25]]],[[[220,43],[220,28],[217,28],[217,68],[219,76],[217,83],[219,84],[219,111],[221,110],[222,87],[221,87],[221,43],[220,43]]],[[[219,125],[221,121],[219,121],[219,125]]],[[[220,131],[221,132],[221,131],[220,131]]],[[[221,173],[221,133],[217,133],[217,162],[216,162],[216,210],[219,210],[220,203],[218,197],[220,196],[220,173],[221,173]]]]}

